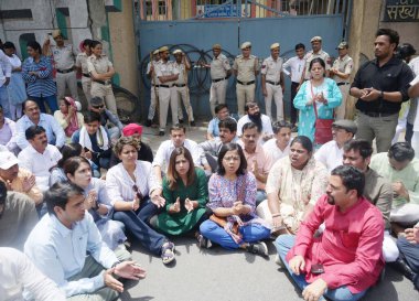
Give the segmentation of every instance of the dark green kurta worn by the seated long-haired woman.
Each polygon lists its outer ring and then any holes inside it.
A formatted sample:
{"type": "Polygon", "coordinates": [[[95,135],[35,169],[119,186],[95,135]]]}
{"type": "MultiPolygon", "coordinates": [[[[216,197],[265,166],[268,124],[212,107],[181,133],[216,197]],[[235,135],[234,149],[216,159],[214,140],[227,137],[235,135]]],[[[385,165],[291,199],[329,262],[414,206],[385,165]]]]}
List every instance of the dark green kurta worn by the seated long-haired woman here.
{"type": "Polygon", "coordinates": [[[179,180],[178,187],[174,191],[169,189],[168,179],[164,178],[163,197],[165,200],[165,211],[158,216],[158,228],[170,235],[181,235],[190,232],[206,212],[208,189],[205,172],[202,169],[195,169],[195,180],[193,183],[185,186],[183,181],[179,180]],[[170,214],[169,208],[176,202],[178,197],[180,197],[181,211],[170,214]],[[186,198],[197,201],[198,207],[187,213],[184,207],[186,198]]]}

